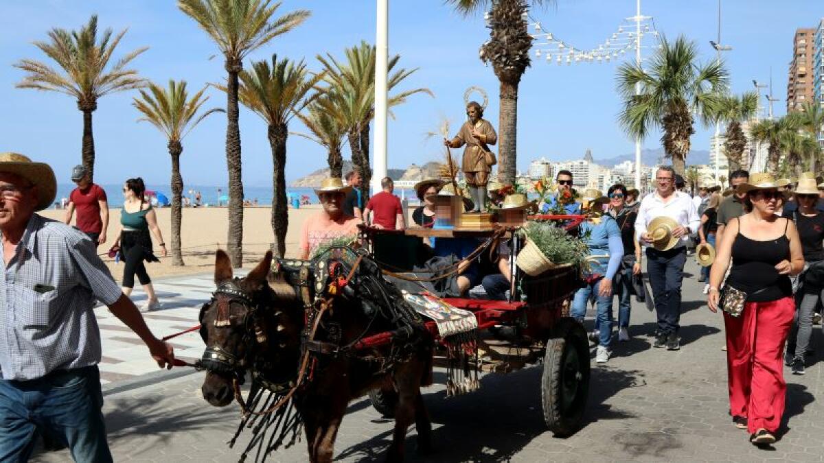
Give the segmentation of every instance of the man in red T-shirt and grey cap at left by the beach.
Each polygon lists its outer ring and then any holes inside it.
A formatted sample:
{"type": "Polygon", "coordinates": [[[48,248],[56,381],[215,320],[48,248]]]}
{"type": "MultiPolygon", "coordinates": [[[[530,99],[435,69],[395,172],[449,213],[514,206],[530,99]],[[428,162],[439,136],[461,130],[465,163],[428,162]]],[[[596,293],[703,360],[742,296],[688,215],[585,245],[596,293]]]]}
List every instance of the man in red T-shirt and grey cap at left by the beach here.
{"type": "Polygon", "coordinates": [[[105,232],[109,228],[109,203],[105,190],[91,183],[89,171],[84,166],[74,166],[72,181],[77,188],[68,195],[67,225],[72,222],[74,209],[77,208],[77,229],[86,233],[95,246],[105,243],[105,232]]]}

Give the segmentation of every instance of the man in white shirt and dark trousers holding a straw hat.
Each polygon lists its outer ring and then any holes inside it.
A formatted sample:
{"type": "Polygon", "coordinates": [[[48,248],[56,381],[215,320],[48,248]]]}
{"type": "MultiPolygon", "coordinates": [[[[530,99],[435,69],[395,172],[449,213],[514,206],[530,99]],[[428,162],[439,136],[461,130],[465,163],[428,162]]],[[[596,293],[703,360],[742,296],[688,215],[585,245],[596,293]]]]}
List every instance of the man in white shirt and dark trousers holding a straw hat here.
{"type": "Polygon", "coordinates": [[[700,226],[700,217],[690,195],[675,190],[675,171],[671,166],[658,167],[655,175],[655,192],[641,201],[635,233],[640,243],[648,246],[647,274],[658,314],[653,347],[667,346],[669,350],[677,350],[686,243],[690,240],[690,233],[700,226]],[[653,218],[661,216],[671,217],[678,223],[678,227],[672,230],[672,236],[678,238],[678,243],[670,250],[657,250],[650,246],[652,236],[647,232],[647,226],[653,218]]]}

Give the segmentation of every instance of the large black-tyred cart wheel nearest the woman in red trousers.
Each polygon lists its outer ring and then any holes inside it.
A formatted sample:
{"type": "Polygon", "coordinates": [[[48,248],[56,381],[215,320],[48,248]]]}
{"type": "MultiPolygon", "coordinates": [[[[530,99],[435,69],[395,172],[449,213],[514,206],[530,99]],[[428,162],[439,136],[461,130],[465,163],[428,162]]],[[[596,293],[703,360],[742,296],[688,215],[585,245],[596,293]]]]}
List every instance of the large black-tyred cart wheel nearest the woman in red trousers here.
{"type": "Polygon", "coordinates": [[[541,405],[546,426],[557,437],[578,430],[589,392],[589,344],[577,321],[564,317],[546,341],[541,405]]]}

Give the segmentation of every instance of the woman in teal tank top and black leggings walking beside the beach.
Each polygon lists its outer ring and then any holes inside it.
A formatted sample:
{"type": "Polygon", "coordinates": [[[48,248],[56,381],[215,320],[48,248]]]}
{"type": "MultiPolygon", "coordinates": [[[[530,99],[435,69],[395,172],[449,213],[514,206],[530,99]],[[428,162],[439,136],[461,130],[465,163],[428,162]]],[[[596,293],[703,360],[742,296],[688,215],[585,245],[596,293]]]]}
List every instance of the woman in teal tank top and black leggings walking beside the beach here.
{"type": "Polygon", "coordinates": [[[143,263],[143,261],[160,262],[152,250],[152,236],[149,235],[149,231],[152,231],[157,237],[157,246],[160,246],[163,257],[166,257],[168,251],[166,250],[166,243],[163,242],[160,227],[157,227],[157,216],[152,208],[152,203],[146,201],[143,196],[145,191],[146,185],[143,184],[143,179],[140,177],[126,180],[123,185],[125,201],[123,209],[120,211],[120,224],[123,227],[115,241],[115,247],[119,246],[120,255],[123,256],[125,262],[123,266],[123,293],[126,296],[132,294],[134,275],[137,275],[147,297],[146,304],[140,310],[147,312],[161,306],[157,300],[154,286],[152,286],[152,278],[149,277],[146,264],[143,263]]]}

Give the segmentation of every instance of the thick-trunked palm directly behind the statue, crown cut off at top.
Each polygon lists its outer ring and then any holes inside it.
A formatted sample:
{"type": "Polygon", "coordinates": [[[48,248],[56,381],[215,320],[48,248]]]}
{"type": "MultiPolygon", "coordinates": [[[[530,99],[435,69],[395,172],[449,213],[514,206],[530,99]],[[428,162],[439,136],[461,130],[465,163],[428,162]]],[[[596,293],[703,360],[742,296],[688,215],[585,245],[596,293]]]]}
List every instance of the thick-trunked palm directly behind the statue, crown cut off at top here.
{"type": "Polygon", "coordinates": [[[530,65],[532,36],[524,19],[529,6],[547,0],[447,0],[464,16],[489,9],[489,40],[480,47],[480,59],[492,63],[499,80],[500,112],[498,180],[515,185],[517,87],[530,65]]]}

